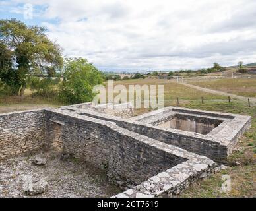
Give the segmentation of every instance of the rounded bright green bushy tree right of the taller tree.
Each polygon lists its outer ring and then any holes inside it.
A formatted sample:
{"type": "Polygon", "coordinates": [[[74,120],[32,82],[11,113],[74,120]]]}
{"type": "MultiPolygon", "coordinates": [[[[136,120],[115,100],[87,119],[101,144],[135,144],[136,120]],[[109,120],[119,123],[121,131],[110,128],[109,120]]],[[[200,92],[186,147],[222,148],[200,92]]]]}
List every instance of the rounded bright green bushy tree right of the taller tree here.
{"type": "Polygon", "coordinates": [[[67,103],[90,102],[95,96],[92,89],[102,84],[102,73],[86,59],[65,59],[64,80],[59,85],[59,96],[67,103]]]}

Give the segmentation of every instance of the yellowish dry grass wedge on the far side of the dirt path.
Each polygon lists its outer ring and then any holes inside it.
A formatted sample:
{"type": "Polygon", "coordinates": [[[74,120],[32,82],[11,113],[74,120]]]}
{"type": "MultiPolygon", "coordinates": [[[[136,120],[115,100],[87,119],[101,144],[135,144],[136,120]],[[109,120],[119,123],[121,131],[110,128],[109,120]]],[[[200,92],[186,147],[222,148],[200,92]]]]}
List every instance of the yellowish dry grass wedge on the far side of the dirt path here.
{"type": "Polygon", "coordinates": [[[210,82],[191,82],[191,84],[212,90],[256,98],[256,78],[226,78],[210,82]]]}

